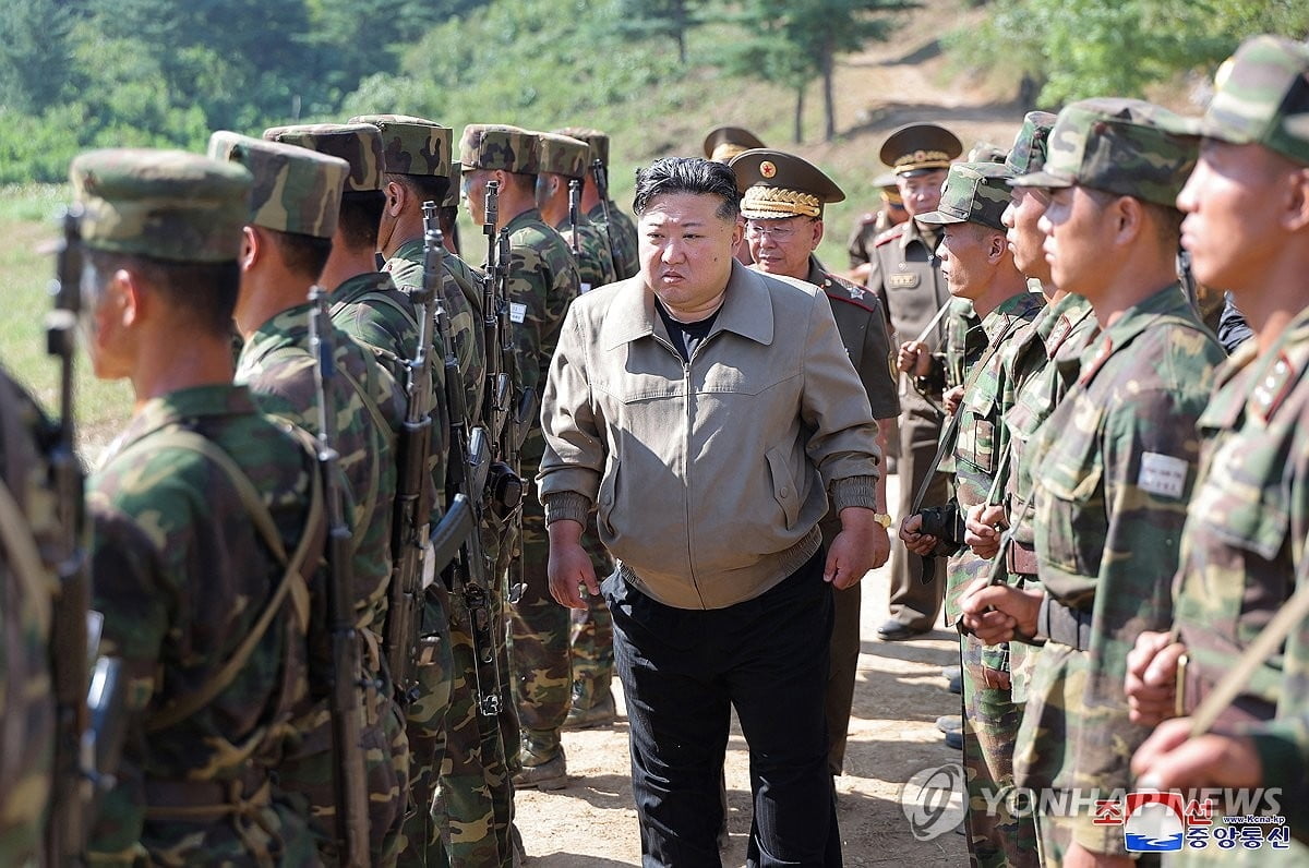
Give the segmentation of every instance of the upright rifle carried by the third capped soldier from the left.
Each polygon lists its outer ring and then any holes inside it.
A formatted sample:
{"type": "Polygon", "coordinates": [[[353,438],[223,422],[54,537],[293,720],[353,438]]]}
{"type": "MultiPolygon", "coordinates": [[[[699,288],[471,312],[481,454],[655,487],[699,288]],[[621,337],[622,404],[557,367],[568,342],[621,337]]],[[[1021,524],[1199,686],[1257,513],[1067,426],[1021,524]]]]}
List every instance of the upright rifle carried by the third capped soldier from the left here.
{"type": "Polygon", "coordinates": [[[445,251],[440,245],[433,250],[427,241],[424,238],[423,285],[408,293],[418,316],[418,348],[414,359],[406,361],[408,408],[397,444],[399,479],[391,520],[393,568],[384,636],[386,665],[402,704],[418,699],[419,691],[414,659],[421,630],[423,551],[432,515],[428,463],[435,431],[432,365],[437,364],[432,310],[433,301],[440,298],[445,251]]]}

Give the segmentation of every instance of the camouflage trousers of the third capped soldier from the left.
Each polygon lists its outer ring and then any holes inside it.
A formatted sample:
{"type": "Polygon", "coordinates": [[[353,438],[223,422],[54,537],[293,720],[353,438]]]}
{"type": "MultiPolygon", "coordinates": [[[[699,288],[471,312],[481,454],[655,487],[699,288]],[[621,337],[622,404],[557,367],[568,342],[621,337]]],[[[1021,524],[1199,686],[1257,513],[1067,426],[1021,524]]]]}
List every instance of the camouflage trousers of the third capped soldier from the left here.
{"type": "Polygon", "coordinates": [[[454,660],[450,653],[449,594],[440,579],[423,601],[423,631],[415,676],[418,698],[404,710],[410,742],[410,812],[404,818],[399,865],[445,868],[450,864],[432,816],[445,761],[445,715],[450,707],[454,660]]]}

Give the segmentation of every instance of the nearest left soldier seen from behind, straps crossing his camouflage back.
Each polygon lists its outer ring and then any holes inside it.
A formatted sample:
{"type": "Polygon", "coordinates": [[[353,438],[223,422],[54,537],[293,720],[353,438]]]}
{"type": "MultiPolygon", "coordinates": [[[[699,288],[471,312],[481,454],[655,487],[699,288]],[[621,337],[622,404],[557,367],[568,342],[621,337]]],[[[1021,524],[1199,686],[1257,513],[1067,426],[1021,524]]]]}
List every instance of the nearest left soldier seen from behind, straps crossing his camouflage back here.
{"type": "Polygon", "coordinates": [[[92,860],[317,864],[304,808],[270,772],[305,690],[326,526],[308,435],[230,384],[250,174],[123,149],[69,175],[92,367],[136,395],[88,486],[94,607],[131,714],[92,860]]]}

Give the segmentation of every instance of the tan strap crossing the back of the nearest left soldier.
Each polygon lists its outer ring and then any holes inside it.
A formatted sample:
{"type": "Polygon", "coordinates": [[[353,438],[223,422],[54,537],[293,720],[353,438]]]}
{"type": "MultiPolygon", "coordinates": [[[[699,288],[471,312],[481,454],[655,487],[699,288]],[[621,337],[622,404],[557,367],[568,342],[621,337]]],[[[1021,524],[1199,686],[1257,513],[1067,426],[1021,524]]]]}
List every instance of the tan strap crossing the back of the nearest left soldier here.
{"type": "MultiPolygon", "coordinates": [[[[313,529],[322,524],[323,497],[322,480],[317,473],[310,473],[309,477],[312,483],[309,516],[305,522],[306,533],[301,535],[300,543],[296,546],[296,551],[288,559],[287,549],[281,545],[281,535],[278,533],[278,525],[274,521],[272,515],[268,512],[268,507],[263,503],[263,497],[259,496],[259,491],[254,487],[254,483],[250,482],[250,477],[247,477],[245,471],[237,466],[232,457],[219,445],[202,435],[195,433],[194,431],[186,431],[183,428],[173,428],[156,437],[149,437],[139,443],[148,443],[153,449],[187,449],[190,452],[199,453],[206,460],[216,465],[237,490],[237,495],[241,497],[241,504],[246,508],[246,512],[250,513],[250,518],[254,521],[259,538],[264,541],[278,562],[285,566],[281,581],[278,583],[278,588],[274,590],[272,597],[264,606],[264,610],[250,626],[250,632],[247,632],[245,639],[241,640],[241,644],[232,652],[232,656],[228,657],[226,662],[224,662],[223,666],[219,668],[219,670],[215,672],[213,676],[211,676],[209,679],[206,681],[198,690],[161,710],[160,714],[154,715],[149,725],[145,727],[145,732],[158,732],[186,720],[200,708],[213,702],[220,693],[228,689],[228,686],[236,679],[237,674],[240,674],[240,672],[245,668],[246,662],[249,662],[251,655],[254,655],[259,642],[263,640],[268,627],[272,626],[278,613],[281,611],[281,605],[287,600],[288,594],[291,596],[296,617],[301,621],[301,623],[308,621],[309,589],[306,587],[304,568],[310,551],[315,547],[315,541],[319,545],[322,543],[322,535],[315,533],[313,529]]],[[[304,445],[302,440],[301,445],[304,445]]]]}

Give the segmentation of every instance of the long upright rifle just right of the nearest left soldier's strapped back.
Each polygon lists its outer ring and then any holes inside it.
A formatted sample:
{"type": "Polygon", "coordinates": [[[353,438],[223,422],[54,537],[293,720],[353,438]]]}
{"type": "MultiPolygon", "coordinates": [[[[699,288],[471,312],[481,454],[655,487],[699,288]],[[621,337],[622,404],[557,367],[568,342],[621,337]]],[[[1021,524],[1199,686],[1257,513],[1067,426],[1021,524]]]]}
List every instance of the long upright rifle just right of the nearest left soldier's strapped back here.
{"type": "Polygon", "coordinates": [[[336,804],[336,858],[346,865],[367,865],[368,793],[364,788],[364,753],[360,710],[360,639],[355,628],[353,577],[350,562],[350,528],[346,525],[336,448],[336,407],[331,388],[336,377],[331,312],[322,287],[309,291],[309,346],[314,352],[314,388],[318,393],[318,469],[323,478],[327,508],[327,628],[331,632],[332,787],[336,804]]]}

